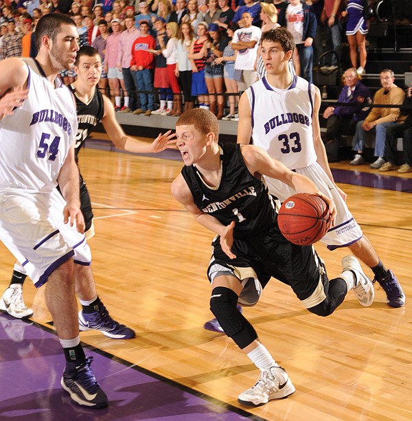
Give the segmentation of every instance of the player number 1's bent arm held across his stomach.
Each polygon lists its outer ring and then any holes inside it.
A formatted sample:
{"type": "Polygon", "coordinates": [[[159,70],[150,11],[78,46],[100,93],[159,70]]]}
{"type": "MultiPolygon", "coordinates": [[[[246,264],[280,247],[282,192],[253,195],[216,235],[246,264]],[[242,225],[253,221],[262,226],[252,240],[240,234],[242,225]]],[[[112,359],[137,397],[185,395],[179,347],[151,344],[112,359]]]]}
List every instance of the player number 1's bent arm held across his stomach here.
{"type": "Polygon", "coordinates": [[[181,203],[185,209],[194,216],[199,224],[220,236],[220,245],[222,246],[222,250],[225,251],[229,258],[236,258],[236,255],[231,251],[233,244],[233,228],[235,227],[234,222],[225,226],[214,216],[202,212],[195,205],[192,192],[190,192],[190,188],[185,179],[183,179],[182,174],[179,174],[172,183],[172,195],[176,201],[181,203]]]}

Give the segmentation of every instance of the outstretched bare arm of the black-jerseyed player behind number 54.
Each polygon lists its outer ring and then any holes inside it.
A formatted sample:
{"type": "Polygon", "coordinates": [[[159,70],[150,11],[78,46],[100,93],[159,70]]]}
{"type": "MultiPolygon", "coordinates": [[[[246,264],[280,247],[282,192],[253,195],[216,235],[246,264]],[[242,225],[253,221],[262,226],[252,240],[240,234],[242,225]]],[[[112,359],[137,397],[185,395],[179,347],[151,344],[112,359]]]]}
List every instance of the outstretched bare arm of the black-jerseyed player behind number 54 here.
{"type": "Polygon", "coordinates": [[[174,148],[175,135],[170,130],[164,135],[159,135],[151,144],[126,135],[122,126],[116,120],[113,104],[105,95],[103,95],[103,104],[102,124],[108,137],[117,148],[137,153],[157,153],[167,148],[174,148]]]}

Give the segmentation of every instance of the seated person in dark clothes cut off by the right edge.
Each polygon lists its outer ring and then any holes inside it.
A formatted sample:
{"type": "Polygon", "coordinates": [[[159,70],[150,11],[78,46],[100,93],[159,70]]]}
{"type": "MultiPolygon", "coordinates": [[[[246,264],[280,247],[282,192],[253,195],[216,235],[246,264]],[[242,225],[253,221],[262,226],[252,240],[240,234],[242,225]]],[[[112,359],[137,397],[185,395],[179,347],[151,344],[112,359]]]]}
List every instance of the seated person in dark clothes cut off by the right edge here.
{"type": "Polygon", "coordinates": [[[398,137],[402,137],[403,163],[398,172],[412,172],[412,88],[408,88],[407,97],[402,104],[402,115],[407,115],[404,122],[399,122],[387,128],[385,139],[385,162],[380,171],[389,171],[396,168],[395,151],[398,137]]]}

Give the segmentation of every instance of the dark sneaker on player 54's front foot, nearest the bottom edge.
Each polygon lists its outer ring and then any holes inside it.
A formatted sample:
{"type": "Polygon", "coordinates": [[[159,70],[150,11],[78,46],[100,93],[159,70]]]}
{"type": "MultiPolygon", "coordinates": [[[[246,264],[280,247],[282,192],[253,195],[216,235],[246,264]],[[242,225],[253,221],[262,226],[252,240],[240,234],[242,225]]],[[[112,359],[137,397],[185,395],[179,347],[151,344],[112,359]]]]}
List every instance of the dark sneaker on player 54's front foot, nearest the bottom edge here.
{"type": "Polygon", "coordinates": [[[107,396],[91,372],[91,361],[93,356],[88,356],[87,359],[77,363],[66,363],[60,383],[78,405],[105,408],[108,405],[107,396]]]}

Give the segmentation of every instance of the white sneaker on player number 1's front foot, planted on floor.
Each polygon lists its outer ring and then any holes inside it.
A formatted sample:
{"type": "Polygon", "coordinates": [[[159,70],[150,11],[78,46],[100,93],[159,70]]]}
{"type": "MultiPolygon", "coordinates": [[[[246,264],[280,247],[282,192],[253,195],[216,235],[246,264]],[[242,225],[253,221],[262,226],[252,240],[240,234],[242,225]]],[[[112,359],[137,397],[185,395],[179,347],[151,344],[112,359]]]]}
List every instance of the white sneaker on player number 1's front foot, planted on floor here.
{"type": "Polygon", "coordinates": [[[264,405],[269,400],[286,398],[295,391],[288,374],[282,367],[271,367],[260,373],[260,379],[250,389],[238,396],[243,405],[264,405]]]}

